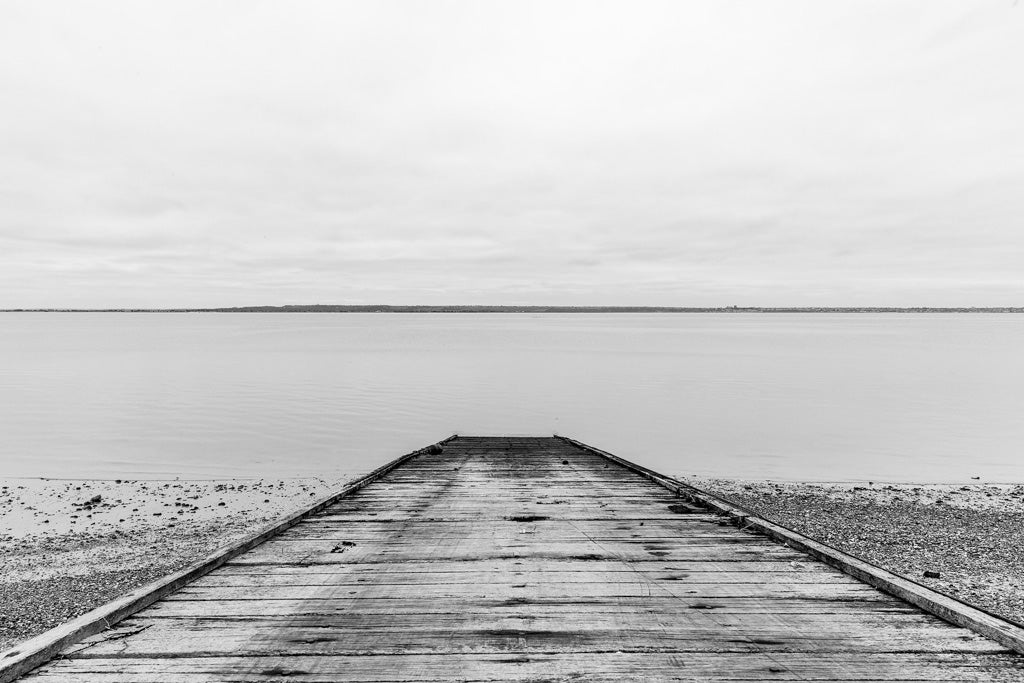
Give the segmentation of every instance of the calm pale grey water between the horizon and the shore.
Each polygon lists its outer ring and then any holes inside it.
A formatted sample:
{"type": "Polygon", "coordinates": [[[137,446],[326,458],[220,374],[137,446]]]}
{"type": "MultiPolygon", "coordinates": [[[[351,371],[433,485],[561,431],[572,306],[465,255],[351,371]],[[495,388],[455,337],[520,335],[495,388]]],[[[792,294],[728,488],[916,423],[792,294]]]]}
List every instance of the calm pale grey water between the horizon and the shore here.
{"type": "Polygon", "coordinates": [[[0,476],[557,432],[677,474],[1021,481],[1022,416],[1024,315],[0,314],[0,476]]]}

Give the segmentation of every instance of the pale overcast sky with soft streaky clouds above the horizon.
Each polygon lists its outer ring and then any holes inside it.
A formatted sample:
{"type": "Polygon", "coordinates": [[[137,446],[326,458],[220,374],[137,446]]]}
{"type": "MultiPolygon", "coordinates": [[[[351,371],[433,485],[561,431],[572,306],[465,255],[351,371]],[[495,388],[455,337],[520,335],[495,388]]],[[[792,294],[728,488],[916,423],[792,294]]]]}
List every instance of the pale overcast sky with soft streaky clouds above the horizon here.
{"type": "Polygon", "coordinates": [[[1024,3],[0,4],[0,307],[1024,305],[1024,3]]]}

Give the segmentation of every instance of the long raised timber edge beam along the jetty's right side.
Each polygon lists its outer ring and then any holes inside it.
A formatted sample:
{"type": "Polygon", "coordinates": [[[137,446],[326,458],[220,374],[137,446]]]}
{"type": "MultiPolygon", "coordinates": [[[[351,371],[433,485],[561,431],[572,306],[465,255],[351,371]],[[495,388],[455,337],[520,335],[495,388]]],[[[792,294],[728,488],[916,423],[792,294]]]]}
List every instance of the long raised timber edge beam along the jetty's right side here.
{"type": "Polygon", "coordinates": [[[701,490],[696,486],[666,476],[643,465],[638,465],[625,458],[620,458],[573,438],[559,434],[555,434],[555,437],[579,449],[606,458],[613,463],[617,463],[626,469],[668,488],[689,503],[714,510],[742,529],[763,533],[773,541],[806,553],[816,560],[836,567],[843,573],[908,602],[915,607],[920,607],[939,618],[970,629],[1015,652],[1024,654],[1024,626],[939,593],[910,579],[895,574],[870,562],[844,553],[827,544],[814,541],[786,526],[760,517],[742,506],[720,496],[701,490]]]}

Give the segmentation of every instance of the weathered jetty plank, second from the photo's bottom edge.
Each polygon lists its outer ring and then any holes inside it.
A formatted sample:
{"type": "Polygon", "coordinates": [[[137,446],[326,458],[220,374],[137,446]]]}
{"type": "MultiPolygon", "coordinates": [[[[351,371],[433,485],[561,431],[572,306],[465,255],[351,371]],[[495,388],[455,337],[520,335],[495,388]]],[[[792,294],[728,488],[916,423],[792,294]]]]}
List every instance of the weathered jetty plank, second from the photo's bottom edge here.
{"type": "MultiPolygon", "coordinates": [[[[614,616],[614,615],[611,615],[614,616]]],[[[481,622],[483,620],[480,620],[481,622]]],[[[707,621],[706,621],[707,622],[707,621]]],[[[127,625],[92,636],[68,651],[76,657],[168,656],[336,656],[342,654],[431,654],[438,650],[467,654],[509,651],[544,652],[941,652],[941,631],[935,626],[905,629],[897,634],[865,630],[860,633],[811,629],[727,628],[718,624],[627,623],[578,629],[545,629],[535,624],[478,625],[476,628],[438,628],[424,622],[397,630],[391,624],[359,630],[321,625],[265,625],[253,628],[233,623],[218,627],[184,628],[170,622],[143,630],[127,625]],[[131,636],[131,637],[126,637],[131,636]],[[939,638],[936,639],[936,636],[939,638]],[[938,642],[937,642],[938,641],[938,642]]],[[[847,625],[848,627],[850,625],[847,625]]],[[[957,643],[956,651],[1004,653],[1008,650],[973,635],[957,643]]]]}

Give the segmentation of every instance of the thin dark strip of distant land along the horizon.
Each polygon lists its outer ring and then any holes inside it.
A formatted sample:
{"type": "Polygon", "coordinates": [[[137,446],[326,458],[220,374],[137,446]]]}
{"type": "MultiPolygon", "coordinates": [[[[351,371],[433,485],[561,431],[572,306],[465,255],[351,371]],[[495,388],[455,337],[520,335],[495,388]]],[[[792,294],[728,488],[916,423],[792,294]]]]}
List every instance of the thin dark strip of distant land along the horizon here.
{"type": "Polygon", "coordinates": [[[0,308],[0,313],[1024,313],[1024,306],[391,306],[0,308]]]}

